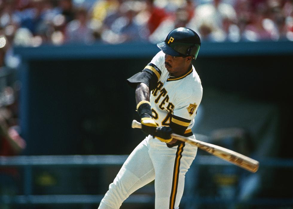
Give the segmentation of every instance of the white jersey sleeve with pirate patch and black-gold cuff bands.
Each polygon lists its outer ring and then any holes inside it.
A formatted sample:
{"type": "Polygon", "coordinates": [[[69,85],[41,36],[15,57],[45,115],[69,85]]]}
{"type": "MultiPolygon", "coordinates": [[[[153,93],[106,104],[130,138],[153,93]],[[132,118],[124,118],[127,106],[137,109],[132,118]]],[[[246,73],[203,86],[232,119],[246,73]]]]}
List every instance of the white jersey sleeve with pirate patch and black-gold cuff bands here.
{"type": "Polygon", "coordinates": [[[176,104],[170,121],[170,127],[174,133],[184,135],[185,131],[192,127],[201,99],[202,94],[193,95],[183,98],[176,104]]]}

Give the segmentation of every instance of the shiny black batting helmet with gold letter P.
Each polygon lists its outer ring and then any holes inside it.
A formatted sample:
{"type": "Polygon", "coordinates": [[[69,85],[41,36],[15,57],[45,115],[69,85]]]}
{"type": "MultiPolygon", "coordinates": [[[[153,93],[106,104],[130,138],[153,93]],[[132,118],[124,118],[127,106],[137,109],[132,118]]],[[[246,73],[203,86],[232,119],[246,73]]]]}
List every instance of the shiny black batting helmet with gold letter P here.
{"type": "Polygon", "coordinates": [[[172,30],[165,41],[157,44],[165,54],[174,57],[193,55],[196,59],[200,48],[199,35],[189,28],[176,28],[172,30]]]}

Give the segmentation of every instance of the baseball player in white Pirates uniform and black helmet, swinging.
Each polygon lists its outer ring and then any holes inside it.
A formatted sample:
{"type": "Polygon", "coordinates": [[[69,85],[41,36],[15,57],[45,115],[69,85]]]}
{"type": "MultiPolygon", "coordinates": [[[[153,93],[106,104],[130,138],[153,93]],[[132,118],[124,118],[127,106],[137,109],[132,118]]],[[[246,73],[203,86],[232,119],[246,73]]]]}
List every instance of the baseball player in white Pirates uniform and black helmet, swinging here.
{"type": "Polygon", "coordinates": [[[192,60],[199,52],[200,38],[189,28],[176,28],[157,46],[161,51],[144,70],[127,79],[135,89],[142,131],[148,136],[129,155],[99,209],[120,208],[130,194],[154,179],[155,208],[179,208],[185,173],[197,147],[170,134],[194,138],[191,128],[202,85],[192,60]]]}

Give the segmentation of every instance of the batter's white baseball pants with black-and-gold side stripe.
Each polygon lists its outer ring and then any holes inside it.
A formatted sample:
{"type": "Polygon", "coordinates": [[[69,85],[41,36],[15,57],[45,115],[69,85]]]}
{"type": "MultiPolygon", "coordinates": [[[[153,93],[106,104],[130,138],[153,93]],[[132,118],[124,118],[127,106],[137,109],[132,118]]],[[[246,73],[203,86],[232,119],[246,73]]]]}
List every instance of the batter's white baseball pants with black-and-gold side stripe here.
{"type": "Polygon", "coordinates": [[[178,209],[185,173],[196,152],[197,147],[190,144],[181,143],[169,148],[149,135],[126,159],[98,209],[120,208],[130,194],[154,179],[155,208],[178,209]]]}

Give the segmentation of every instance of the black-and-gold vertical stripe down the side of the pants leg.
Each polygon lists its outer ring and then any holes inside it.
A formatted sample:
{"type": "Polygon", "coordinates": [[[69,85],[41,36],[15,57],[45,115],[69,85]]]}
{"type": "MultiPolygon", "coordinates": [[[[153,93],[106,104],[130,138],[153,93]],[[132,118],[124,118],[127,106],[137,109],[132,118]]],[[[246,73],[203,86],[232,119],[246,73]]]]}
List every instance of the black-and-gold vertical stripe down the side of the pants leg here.
{"type": "Polygon", "coordinates": [[[178,179],[179,179],[179,173],[180,173],[180,159],[182,157],[184,145],[185,145],[184,143],[179,144],[178,148],[177,148],[177,152],[176,152],[169,209],[175,208],[176,194],[177,194],[177,188],[178,188],[178,179]]]}

